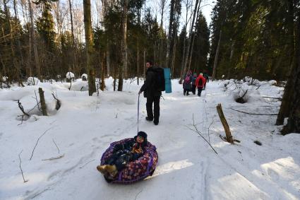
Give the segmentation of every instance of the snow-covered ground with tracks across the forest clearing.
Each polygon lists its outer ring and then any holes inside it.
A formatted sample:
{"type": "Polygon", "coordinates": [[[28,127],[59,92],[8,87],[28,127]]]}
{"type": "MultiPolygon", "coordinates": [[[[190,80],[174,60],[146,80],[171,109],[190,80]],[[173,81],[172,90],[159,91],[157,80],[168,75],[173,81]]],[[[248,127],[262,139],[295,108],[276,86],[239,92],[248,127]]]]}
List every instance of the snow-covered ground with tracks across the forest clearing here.
{"type": "Polygon", "coordinates": [[[281,97],[283,88],[265,82],[239,104],[234,88],[227,84],[224,91],[224,83],[208,83],[198,98],[184,96],[173,80],[173,93],[161,99],[158,126],[145,121],[145,98],[140,99],[139,127],[157,147],[159,161],[152,177],[131,185],[108,184],[96,166],[109,143],[136,135],[136,82],[126,81],[124,92],[114,92],[109,78],[107,90],[92,97],[86,81],[72,83],[71,90],[69,83],[0,89],[0,199],[300,199],[300,134],[280,135],[276,116],[234,111],[275,114],[280,102],[262,97],[281,97]],[[30,111],[35,115],[21,124],[16,101],[31,110],[39,87],[49,116],[35,108],[30,111]],[[52,92],[61,100],[58,111],[52,92]],[[218,103],[241,143],[220,138],[218,103]],[[190,130],[193,119],[217,154],[190,130]]]}

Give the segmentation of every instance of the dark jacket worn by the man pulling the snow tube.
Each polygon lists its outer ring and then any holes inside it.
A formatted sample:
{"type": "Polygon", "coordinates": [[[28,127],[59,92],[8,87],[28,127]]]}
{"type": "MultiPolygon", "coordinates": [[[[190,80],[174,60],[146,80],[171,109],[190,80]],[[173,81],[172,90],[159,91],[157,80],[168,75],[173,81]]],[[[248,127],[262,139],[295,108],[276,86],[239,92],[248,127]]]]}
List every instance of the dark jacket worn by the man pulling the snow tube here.
{"type": "Polygon", "coordinates": [[[147,69],[145,83],[140,88],[140,91],[144,92],[145,98],[153,97],[153,96],[157,97],[162,95],[161,91],[155,89],[155,76],[157,75],[154,69],[155,66],[151,66],[150,68],[147,69]]]}

